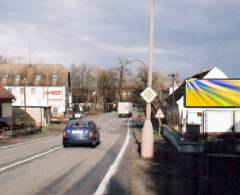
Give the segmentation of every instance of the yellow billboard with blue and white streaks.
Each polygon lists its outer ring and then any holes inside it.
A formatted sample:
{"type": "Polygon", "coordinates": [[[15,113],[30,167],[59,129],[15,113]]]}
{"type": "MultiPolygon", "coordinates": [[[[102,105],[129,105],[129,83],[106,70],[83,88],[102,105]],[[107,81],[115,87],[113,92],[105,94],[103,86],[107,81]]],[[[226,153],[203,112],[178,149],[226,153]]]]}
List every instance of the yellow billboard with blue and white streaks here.
{"type": "Polygon", "coordinates": [[[240,79],[189,79],[185,107],[240,107],[240,79]]]}

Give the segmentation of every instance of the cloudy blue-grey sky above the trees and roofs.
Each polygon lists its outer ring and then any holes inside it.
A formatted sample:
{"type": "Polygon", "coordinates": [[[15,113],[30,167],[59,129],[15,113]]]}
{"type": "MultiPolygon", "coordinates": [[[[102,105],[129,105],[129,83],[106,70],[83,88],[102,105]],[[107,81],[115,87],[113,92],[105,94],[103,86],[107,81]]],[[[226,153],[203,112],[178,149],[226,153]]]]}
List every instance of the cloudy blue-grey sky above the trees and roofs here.
{"type": "MultiPolygon", "coordinates": [[[[239,0],[156,0],[154,69],[240,78],[239,0]]],[[[149,0],[1,0],[0,55],[32,63],[147,63],[149,0]]],[[[137,66],[129,64],[128,66],[137,66]]]]}

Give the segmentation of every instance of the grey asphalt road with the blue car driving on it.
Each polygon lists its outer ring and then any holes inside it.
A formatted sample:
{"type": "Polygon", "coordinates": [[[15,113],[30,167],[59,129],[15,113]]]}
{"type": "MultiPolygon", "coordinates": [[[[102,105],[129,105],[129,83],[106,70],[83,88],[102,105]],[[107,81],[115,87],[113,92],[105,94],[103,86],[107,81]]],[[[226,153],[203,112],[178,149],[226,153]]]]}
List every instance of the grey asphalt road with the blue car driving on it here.
{"type": "Polygon", "coordinates": [[[101,127],[97,148],[63,148],[61,134],[0,147],[0,193],[93,194],[123,145],[127,119],[92,119],[101,127]]]}

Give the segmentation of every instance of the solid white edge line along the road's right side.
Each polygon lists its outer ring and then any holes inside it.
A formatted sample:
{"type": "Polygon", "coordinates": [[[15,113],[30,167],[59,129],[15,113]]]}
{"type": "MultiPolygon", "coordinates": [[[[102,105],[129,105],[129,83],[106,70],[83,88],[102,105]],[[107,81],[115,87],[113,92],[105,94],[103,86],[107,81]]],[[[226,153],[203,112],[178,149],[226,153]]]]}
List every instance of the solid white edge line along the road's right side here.
{"type": "Polygon", "coordinates": [[[111,177],[116,173],[116,171],[118,170],[118,167],[120,165],[120,162],[123,158],[123,155],[127,149],[129,140],[130,140],[130,131],[129,131],[129,120],[128,120],[128,131],[127,131],[127,135],[125,138],[125,141],[123,143],[123,146],[121,148],[121,151],[119,152],[117,158],[115,159],[115,161],[113,162],[113,164],[111,165],[111,167],[109,168],[108,172],[106,173],[106,175],[104,176],[103,180],[101,181],[100,185],[98,186],[97,190],[94,192],[94,195],[102,195],[104,194],[104,192],[107,190],[107,186],[108,183],[111,179],[111,177]]]}

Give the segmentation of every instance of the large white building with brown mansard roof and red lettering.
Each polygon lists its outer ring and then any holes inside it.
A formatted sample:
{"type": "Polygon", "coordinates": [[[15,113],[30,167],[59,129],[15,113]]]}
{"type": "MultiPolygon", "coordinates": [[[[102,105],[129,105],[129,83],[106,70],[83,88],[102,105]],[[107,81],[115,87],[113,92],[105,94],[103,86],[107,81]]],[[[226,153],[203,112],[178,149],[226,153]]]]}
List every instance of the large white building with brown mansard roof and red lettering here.
{"type": "Polygon", "coordinates": [[[0,84],[40,126],[61,120],[69,105],[70,75],[61,64],[1,64],[0,84]]]}

